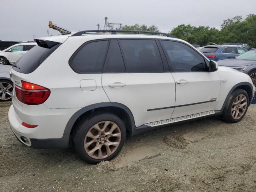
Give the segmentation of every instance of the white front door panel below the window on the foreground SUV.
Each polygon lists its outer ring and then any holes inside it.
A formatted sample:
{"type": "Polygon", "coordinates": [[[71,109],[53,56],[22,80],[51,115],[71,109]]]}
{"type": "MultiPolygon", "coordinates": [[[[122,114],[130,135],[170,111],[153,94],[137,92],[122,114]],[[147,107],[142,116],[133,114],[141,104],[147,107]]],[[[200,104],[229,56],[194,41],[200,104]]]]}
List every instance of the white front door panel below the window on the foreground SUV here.
{"type": "Polygon", "coordinates": [[[176,107],[172,118],[214,110],[220,93],[217,72],[175,72],[172,76],[176,82],[176,107]],[[187,82],[178,84],[179,80],[187,82]]]}

